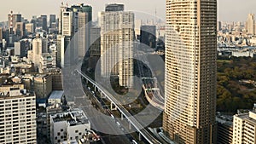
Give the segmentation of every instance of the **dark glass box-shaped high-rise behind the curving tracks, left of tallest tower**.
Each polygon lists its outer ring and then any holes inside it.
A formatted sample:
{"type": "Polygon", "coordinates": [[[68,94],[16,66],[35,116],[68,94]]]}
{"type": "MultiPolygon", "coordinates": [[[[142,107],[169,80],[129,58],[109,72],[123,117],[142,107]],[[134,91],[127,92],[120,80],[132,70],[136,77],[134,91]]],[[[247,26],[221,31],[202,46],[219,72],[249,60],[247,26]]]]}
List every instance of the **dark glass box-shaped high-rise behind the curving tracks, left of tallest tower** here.
{"type": "Polygon", "coordinates": [[[149,48],[155,49],[155,32],[156,26],[141,26],[140,43],[147,45],[149,48]]]}

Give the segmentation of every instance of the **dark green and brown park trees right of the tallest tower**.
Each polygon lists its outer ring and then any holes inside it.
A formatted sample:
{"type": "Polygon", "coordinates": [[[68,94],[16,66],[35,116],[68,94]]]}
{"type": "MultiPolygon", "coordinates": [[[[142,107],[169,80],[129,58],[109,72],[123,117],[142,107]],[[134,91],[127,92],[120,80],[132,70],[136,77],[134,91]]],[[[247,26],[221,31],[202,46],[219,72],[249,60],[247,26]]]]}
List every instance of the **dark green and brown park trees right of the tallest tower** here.
{"type": "Polygon", "coordinates": [[[217,111],[251,109],[256,103],[256,58],[218,57],[217,111]]]}

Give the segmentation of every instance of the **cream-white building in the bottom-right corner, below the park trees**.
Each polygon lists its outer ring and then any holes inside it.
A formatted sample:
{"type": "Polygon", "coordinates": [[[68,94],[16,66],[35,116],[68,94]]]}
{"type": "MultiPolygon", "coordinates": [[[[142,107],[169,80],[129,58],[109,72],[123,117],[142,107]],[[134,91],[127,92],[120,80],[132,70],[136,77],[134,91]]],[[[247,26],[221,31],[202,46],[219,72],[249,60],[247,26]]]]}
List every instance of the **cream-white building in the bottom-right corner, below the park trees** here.
{"type": "Polygon", "coordinates": [[[233,121],[233,144],[256,143],[256,112],[236,114],[233,121]]]}

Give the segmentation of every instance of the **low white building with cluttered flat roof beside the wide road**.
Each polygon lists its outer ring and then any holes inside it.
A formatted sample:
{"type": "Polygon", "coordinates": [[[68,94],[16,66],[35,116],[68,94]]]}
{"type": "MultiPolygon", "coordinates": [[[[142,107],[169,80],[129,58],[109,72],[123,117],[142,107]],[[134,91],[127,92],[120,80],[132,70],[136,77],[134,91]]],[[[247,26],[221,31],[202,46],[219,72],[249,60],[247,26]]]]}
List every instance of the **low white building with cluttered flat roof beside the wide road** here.
{"type": "Polygon", "coordinates": [[[81,139],[87,130],[90,130],[90,122],[82,110],[50,116],[50,140],[53,144],[81,139]]]}

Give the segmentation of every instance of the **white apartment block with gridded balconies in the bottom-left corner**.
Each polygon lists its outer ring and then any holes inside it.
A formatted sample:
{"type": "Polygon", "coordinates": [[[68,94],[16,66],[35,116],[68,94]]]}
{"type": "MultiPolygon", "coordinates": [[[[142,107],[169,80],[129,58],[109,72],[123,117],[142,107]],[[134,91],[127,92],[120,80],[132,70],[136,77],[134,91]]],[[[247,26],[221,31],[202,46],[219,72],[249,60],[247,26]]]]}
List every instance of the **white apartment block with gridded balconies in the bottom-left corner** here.
{"type": "Polygon", "coordinates": [[[26,89],[11,88],[8,95],[1,95],[0,118],[0,143],[37,143],[34,94],[26,93],[26,89]]]}

